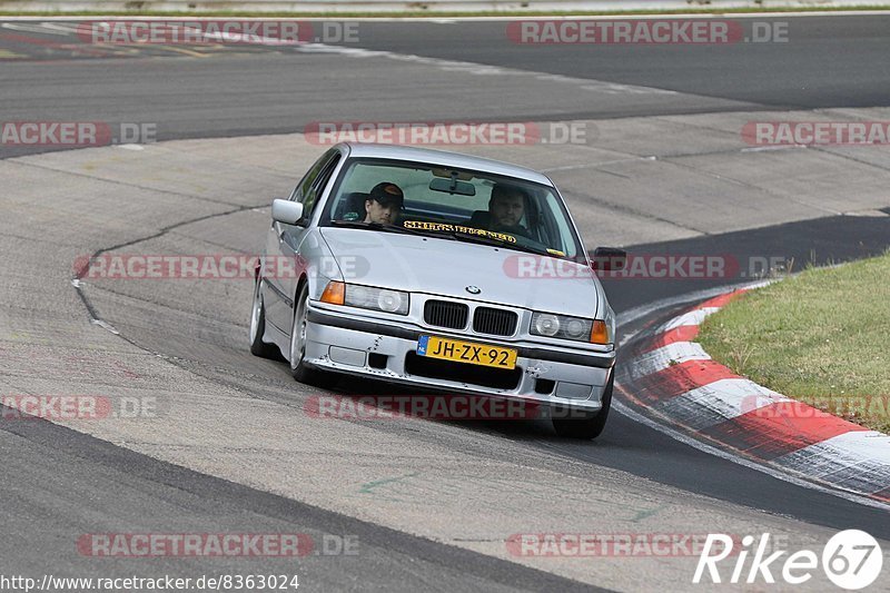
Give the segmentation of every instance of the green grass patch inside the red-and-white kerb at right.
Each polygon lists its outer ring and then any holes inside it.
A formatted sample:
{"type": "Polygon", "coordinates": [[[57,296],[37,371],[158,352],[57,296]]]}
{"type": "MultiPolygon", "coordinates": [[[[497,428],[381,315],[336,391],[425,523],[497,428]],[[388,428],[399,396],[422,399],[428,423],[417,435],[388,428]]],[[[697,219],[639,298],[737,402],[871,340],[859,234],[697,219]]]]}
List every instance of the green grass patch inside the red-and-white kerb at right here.
{"type": "Polygon", "coordinates": [[[890,253],[752,290],[696,340],[739,375],[890,433],[890,253]]]}

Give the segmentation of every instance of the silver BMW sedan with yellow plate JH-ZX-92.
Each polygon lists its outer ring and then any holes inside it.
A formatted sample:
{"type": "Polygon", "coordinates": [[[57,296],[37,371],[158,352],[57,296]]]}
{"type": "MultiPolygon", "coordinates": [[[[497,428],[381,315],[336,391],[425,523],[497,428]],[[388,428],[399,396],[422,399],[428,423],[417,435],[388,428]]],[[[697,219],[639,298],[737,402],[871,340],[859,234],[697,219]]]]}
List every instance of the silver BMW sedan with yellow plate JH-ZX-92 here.
{"type": "Polygon", "coordinates": [[[563,436],[605,426],[615,318],[546,176],[390,145],[327,150],[275,199],[250,350],[320,385],[359,375],[547,411],[563,436]]]}

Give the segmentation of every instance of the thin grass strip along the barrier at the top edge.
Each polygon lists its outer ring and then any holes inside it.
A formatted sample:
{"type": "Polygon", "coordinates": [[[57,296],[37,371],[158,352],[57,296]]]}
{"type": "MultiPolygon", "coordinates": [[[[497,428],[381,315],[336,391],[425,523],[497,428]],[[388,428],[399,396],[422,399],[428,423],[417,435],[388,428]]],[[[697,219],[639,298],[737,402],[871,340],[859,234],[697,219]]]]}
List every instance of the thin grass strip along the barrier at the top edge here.
{"type": "Polygon", "coordinates": [[[699,8],[690,7],[673,10],[491,10],[491,11],[442,11],[435,10],[406,10],[404,12],[301,12],[301,11],[273,11],[257,12],[246,10],[192,10],[192,11],[169,11],[169,10],[2,10],[3,2],[0,1],[0,17],[255,17],[255,18],[328,18],[328,19],[349,19],[349,18],[417,18],[429,17],[431,19],[442,19],[448,17],[609,17],[619,14],[745,14],[755,12],[849,12],[857,10],[890,10],[890,4],[857,4],[852,7],[769,7],[769,8],[699,8]]]}

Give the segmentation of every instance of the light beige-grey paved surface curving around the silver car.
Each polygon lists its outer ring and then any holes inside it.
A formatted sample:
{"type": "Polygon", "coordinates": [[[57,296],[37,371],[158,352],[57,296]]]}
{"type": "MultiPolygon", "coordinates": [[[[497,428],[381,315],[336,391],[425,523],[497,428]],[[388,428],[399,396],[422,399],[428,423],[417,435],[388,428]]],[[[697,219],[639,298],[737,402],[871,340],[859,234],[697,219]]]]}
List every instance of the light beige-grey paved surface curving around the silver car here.
{"type": "MultiPolygon", "coordinates": [[[[890,109],[615,119],[592,122],[595,146],[456,148],[552,175],[590,247],[886,216],[886,150],[752,150],[740,136],[751,120],[820,118],[887,120],[890,109]]],[[[287,194],[322,149],[286,135],[1,160],[0,393],[63,386],[112,405],[151,401],[151,415],[60,424],[259,491],[624,591],[655,580],[685,591],[696,557],[578,562],[517,554],[508,543],[530,533],[769,532],[790,548],[821,550],[835,533],[555,456],[534,439],[419,421],[313,418],[303,404],[319,392],[247,352],[251,285],[243,279],[86,281],[80,289],[101,320],[91,322],[71,286],[77,258],[100,249],[256,253],[271,198],[287,194]]],[[[821,574],[807,586],[833,587],[821,574]]]]}

